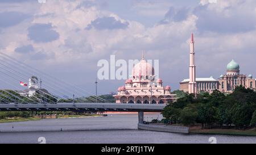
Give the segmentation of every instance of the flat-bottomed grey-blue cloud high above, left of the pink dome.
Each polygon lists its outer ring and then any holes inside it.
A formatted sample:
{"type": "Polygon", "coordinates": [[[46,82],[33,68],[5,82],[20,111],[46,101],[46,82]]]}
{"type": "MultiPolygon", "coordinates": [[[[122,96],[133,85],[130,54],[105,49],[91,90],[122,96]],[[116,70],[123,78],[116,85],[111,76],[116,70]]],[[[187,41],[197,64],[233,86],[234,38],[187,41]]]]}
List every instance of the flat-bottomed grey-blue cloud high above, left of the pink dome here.
{"type": "Polygon", "coordinates": [[[114,30],[114,29],[125,29],[129,25],[128,22],[121,22],[116,20],[113,16],[107,16],[102,18],[97,18],[93,20],[89,26],[86,27],[87,30],[95,28],[97,30],[114,30]]]}

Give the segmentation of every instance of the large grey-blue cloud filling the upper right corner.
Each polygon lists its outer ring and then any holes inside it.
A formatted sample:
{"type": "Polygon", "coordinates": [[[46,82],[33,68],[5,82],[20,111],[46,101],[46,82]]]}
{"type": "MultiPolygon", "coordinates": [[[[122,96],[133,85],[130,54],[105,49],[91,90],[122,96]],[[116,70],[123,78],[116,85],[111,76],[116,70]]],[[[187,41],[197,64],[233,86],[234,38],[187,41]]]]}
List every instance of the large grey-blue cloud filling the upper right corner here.
{"type": "Polygon", "coordinates": [[[236,33],[255,29],[255,1],[201,1],[193,10],[197,28],[203,32],[236,33]]]}

